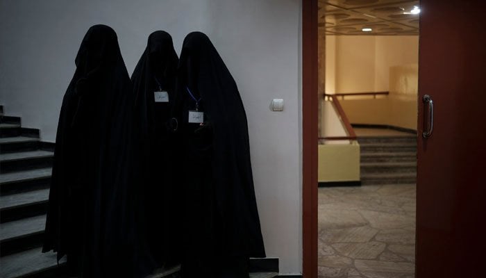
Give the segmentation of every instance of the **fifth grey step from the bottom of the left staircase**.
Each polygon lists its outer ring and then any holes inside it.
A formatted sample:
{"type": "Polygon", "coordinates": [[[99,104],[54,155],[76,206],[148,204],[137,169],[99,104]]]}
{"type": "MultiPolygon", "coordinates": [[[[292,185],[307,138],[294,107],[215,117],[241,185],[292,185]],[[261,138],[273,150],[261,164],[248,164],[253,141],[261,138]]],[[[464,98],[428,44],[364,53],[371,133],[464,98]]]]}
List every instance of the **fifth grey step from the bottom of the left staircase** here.
{"type": "Polygon", "coordinates": [[[54,153],[43,150],[0,154],[0,173],[52,167],[54,153]]]}

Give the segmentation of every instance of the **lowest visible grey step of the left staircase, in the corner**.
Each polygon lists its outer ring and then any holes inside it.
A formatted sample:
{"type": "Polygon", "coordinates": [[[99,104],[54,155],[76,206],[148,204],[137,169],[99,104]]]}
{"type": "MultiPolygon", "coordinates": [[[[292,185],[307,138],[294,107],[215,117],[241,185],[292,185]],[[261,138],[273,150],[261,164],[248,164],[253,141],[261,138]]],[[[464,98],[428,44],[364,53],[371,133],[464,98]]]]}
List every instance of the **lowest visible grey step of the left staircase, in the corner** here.
{"type": "MultiPolygon", "coordinates": [[[[61,276],[62,268],[58,266],[56,253],[42,253],[41,250],[35,248],[1,257],[0,277],[65,277],[61,276]]],[[[60,266],[63,265],[65,259],[60,261],[60,266]]]]}

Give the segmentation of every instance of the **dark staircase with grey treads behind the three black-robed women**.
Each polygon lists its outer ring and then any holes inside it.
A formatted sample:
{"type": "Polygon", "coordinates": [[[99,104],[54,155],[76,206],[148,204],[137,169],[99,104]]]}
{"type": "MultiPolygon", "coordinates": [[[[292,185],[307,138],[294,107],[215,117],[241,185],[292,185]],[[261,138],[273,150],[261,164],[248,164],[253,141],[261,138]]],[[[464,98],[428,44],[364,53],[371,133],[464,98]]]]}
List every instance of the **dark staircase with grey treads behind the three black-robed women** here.
{"type": "MultiPolygon", "coordinates": [[[[42,253],[53,143],[40,141],[38,129],[21,126],[19,117],[3,115],[0,106],[0,277],[67,277],[65,261],[42,253]]],[[[251,278],[278,275],[278,259],[251,259],[251,278]],[[260,264],[273,264],[270,268],[260,264]]],[[[147,278],[179,277],[180,267],[158,270],[147,278]]]]}

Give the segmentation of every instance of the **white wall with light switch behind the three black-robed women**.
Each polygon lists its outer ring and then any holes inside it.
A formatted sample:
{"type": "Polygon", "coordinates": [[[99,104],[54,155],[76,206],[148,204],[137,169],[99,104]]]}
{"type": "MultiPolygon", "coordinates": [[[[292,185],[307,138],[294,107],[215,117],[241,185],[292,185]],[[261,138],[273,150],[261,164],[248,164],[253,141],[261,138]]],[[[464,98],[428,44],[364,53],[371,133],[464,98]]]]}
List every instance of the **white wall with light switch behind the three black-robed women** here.
{"type": "Polygon", "coordinates": [[[190,31],[208,34],[249,118],[267,255],[280,258],[281,273],[300,273],[301,1],[0,0],[0,104],[44,141],[55,140],[74,58],[93,24],[117,31],[130,73],[152,31],[168,31],[178,51],[190,31]],[[269,111],[274,97],[285,99],[285,111],[269,111]]]}

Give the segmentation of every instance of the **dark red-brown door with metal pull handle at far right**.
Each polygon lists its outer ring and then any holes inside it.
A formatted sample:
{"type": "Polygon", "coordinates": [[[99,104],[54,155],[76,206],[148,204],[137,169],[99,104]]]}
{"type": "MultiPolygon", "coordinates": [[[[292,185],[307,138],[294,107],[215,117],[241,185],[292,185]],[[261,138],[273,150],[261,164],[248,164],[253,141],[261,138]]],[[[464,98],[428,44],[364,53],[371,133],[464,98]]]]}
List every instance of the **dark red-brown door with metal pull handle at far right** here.
{"type": "Polygon", "coordinates": [[[486,277],[485,2],[420,1],[417,278],[486,277]]]}

